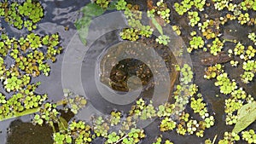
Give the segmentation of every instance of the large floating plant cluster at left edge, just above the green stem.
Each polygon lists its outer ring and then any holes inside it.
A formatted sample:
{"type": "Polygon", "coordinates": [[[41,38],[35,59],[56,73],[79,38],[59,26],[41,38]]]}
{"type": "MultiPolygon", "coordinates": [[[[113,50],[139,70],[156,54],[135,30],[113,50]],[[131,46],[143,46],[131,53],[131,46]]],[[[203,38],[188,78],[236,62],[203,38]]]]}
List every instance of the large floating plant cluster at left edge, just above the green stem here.
{"type": "Polygon", "coordinates": [[[25,37],[15,38],[1,32],[0,78],[3,88],[8,92],[2,95],[11,95],[1,105],[1,119],[18,116],[26,110],[29,112],[30,109],[40,107],[47,99],[47,95],[34,92],[40,82],[31,84],[31,80],[42,74],[49,75],[49,60],[55,61],[55,56],[61,53],[59,41],[57,33],[43,37],[30,33],[25,37]],[[45,37],[49,38],[44,40],[45,37]],[[10,61],[12,62],[9,63],[10,61]]]}

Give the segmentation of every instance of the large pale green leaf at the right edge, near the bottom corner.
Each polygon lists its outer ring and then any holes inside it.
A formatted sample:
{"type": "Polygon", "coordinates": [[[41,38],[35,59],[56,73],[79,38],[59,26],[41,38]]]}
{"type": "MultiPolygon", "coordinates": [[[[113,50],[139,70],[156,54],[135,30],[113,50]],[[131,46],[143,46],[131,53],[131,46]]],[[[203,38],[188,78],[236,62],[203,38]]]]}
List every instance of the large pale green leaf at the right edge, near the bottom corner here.
{"type": "Polygon", "coordinates": [[[232,132],[239,133],[256,120],[256,101],[241,107],[237,112],[237,123],[232,132]]]}

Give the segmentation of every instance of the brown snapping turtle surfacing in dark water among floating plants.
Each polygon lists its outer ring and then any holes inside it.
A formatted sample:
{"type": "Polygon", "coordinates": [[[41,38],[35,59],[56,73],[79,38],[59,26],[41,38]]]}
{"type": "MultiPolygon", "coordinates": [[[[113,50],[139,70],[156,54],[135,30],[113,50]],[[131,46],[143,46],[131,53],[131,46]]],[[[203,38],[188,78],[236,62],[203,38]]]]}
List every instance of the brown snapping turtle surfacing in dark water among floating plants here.
{"type": "Polygon", "coordinates": [[[136,90],[139,89],[140,84],[143,85],[143,90],[148,90],[159,84],[154,78],[154,73],[159,74],[160,79],[166,81],[165,76],[161,76],[166,68],[169,77],[172,77],[172,91],[177,79],[175,64],[177,61],[169,48],[156,43],[153,38],[141,38],[138,42],[117,44],[102,54],[99,67],[100,81],[115,91],[136,90]],[[154,55],[160,55],[165,66],[160,65],[160,59],[154,59],[154,55]],[[131,78],[133,76],[137,78],[131,78]],[[128,80],[130,84],[127,83],[128,80]],[[133,86],[133,89],[128,85],[133,86]]]}

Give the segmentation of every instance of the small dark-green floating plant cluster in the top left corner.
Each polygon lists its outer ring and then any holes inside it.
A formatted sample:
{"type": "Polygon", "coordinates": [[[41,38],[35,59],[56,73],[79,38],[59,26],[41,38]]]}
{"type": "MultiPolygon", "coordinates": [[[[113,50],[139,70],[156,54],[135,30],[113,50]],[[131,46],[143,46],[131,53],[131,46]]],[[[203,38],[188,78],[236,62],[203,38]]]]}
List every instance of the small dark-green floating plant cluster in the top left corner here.
{"type": "Polygon", "coordinates": [[[0,16],[17,29],[26,27],[28,31],[37,28],[37,23],[44,17],[44,9],[39,2],[26,0],[24,3],[0,3],[0,16]]]}

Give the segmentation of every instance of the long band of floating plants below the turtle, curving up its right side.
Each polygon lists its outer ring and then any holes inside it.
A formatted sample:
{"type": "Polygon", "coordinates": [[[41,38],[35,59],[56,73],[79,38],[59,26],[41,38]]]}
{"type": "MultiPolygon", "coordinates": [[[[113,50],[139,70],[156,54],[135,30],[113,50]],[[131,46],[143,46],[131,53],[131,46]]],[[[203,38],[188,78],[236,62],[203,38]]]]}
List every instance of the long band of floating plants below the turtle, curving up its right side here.
{"type": "MultiPolygon", "coordinates": [[[[34,116],[36,124],[49,124],[54,129],[53,138],[55,143],[90,143],[97,137],[105,140],[105,143],[139,143],[146,136],[144,130],[137,128],[140,121],[159,118],[160,131],[170,132],[176,130],[179,135],[203,136],[204,130],[214,125],[215,119],[208,111],[207,104],[201,94],[197,94],[197,86],[192,83],[193,72],[189,65],[177,66],[177,70],[182,72],[181,84],[177,85],[174,92],[176,102],[165,103],[158,107],[153,106],[152,101],[138,99],[131,107],[130,112],[124,113],[113,110],[108,116],[95,115],[91,118],[91,124],[81,120],[73,119],[70,122],[61,118],[56,106],[60,103],[69,103],[67,99],[56,103],[45,103],[39,113],[34,116]],[[191,99],[190,99],[191,98],[191,99]],[[199,119],[192,118],[184,107],[189,103],[190,108],[198,113],[199,119]],[[179,109],[179,110],[178,110],[179,109]],[[55,130],[58,124],[58,131],[55,130]]],[[[64,96],[73,94],[70,90],[64,89],[64,96]]],[[[72,97],[72,96],[71,96],[72,97]]],[[[85,101],[85,100],[84,100],[85,101]]],[[[84,102],[83,104],[85,104],[84,102]]],[[[76,104],[76,106],[79,106],[76,104]]],[[[84,105],[83,105],[84,107],[84,105]]],[[[72,107],[69,107],[72,108],[72,107]]],[[[82,107],[79,107],[79,109],[82,107]]],[[[77,109],[79,111],[79,109],[77,109]]],[[[161,142],[156,138],[156,143],[161,142]]],[[[166,140],[165,143],[172,143],[166,140]]]]}

